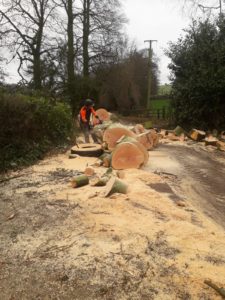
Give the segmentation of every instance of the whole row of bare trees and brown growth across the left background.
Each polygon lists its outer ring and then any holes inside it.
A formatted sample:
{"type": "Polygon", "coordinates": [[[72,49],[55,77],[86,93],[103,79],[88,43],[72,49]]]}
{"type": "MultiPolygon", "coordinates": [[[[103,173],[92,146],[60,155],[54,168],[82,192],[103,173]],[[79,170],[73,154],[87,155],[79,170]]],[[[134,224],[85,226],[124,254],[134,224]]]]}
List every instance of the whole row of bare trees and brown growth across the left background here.
{"type": "MultiPolygon", "coordinates": [[[[19,61],[20,86],[68,100],[73,112],[93,98],[108,109],[145,104],[148,53],[125,34],[120,0],[12,0],[0,7],[3,53],[19,61]]],[[[153,57],[152,92],[158,85],[153,57]]]]}

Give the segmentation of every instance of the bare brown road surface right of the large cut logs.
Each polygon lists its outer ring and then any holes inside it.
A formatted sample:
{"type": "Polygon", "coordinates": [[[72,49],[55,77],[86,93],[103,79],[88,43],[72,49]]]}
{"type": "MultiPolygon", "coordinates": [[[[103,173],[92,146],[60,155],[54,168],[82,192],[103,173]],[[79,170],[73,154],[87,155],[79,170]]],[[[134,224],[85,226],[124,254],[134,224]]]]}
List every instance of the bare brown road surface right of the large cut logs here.
{"type": "MultiPolygon", "coordinates": [[[[186,198],[225,228],[225,154],[198,144],[160,145],[148,168],[172,173],[186,198]]],[[[173,184],[173,183],[172,183],[173,184]]]]}

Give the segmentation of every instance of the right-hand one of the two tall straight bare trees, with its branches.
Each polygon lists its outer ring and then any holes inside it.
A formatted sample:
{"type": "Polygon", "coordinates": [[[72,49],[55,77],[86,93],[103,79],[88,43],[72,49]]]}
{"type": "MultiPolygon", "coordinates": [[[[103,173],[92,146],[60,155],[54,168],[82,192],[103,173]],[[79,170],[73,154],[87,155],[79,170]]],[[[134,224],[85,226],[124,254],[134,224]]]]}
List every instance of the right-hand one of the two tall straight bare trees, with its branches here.
{"type": "Polygon", "coordinates": [[[96,65],[114,57],[126,18],[119,0],[82,0],[80,16],[83,76],[88,77],[96,65]]]}

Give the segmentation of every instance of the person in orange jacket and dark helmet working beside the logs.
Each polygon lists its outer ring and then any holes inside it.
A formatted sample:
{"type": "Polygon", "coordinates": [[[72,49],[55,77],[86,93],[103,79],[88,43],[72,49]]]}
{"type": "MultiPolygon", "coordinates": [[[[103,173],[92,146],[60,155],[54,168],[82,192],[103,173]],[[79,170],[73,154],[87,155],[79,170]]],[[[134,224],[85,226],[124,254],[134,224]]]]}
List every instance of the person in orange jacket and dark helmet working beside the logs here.
{"type": "Polygon", "coordinates": [[[92,130],[91,117],[95,116],[97,119],[99,119],[99,117],[93,106],[94,102],[91,99],[86,99],[84,106],[81,107],[79,113],[80,127],[84,134],[85,143],[90,143],[90,135],[92,136],[94,143],[98,143],[98,139],[92,130]]]}

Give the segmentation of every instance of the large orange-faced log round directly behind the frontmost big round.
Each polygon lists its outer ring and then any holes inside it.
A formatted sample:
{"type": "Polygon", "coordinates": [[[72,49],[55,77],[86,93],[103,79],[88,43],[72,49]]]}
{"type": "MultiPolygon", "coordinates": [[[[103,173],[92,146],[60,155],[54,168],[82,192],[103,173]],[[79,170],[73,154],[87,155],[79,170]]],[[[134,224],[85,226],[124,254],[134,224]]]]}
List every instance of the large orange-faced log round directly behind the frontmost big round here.
{"type": "Polygon", "coordinates": [[[135,133],[126,127],[122,127],[121,125],[114,125],[108,127],[103,134],[103,142],[106,142],[108,149],[112,151],[116,147],[117,141],[122,136],[130,136],[135,137],[135,133]]]}

